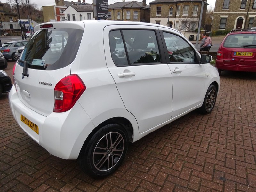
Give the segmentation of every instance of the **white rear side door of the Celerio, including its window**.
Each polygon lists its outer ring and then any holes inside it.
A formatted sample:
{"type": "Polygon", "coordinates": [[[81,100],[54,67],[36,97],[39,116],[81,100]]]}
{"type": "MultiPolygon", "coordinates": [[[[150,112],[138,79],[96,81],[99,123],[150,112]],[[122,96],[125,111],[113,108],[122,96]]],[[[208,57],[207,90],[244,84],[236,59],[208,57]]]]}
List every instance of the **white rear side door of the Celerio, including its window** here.
{"type": "Polygon", "coordinates": [[[163,61],[160,52],[163,46],[159,46],[156,30],[157,27],[149,26],[145,30],[143,25],[119,25],[117,29],[108,26],[104,29],[108,70],[125,108],[135,116],[140,133],[170,120],[172,116],[172,74],[163,61]],[[123,54],[115,54],[116,44],[119,44],[119,52],[123,47],[123,54]]]}

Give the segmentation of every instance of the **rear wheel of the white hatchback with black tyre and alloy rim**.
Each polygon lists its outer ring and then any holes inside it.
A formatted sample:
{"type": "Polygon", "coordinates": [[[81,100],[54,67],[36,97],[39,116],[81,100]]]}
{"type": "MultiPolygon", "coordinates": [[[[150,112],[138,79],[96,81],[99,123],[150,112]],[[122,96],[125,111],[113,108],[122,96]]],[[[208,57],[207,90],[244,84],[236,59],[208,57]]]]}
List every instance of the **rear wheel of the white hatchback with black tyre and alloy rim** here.
{"type": "Polygon", "coordinates": [[[77,159],[78,164],[93,178],[106,177],[123,162],[128,143],[128,134],[124,127],[119,124],[107,124],[84,143],[77,159]]]}

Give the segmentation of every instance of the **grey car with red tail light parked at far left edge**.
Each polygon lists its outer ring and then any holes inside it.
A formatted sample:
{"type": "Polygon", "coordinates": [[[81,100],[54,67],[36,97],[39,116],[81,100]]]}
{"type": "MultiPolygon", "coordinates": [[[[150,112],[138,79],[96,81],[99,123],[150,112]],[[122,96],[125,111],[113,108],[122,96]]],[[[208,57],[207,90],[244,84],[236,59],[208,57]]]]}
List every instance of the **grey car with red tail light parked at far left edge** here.
{"type": "Polygon", "coordinates": [[[28,41],[8,41],[0,47],[0,51],[3,53],[6,60],[12,59],[16,61],[14,57],[16,49],[25,46],[27,43],[28,41]]]}

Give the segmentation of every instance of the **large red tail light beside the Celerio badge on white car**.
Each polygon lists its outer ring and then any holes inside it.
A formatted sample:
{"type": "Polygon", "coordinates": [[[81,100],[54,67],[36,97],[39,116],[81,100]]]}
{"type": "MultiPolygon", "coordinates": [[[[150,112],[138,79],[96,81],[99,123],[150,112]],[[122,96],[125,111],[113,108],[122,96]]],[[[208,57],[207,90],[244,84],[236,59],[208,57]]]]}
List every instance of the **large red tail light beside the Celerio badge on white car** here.
{"type": "Polygon", "coordinates": [[[65,112],[71,109],[86,87],[80,77],[71,74],[61,79],[54,88],[55,103],[53,112],[65,112]]]}

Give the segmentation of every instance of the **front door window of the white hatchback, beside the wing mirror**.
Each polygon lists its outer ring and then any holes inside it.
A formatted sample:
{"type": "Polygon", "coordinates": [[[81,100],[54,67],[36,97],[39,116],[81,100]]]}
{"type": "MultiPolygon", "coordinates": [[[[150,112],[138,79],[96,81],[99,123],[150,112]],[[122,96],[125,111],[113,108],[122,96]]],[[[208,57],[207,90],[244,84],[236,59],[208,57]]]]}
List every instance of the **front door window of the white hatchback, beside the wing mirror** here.
{"type": "Polygon", "coordinates": [[[194,49],[181,37],[163,32],[170,62],[195,63],[194,49]]]}

